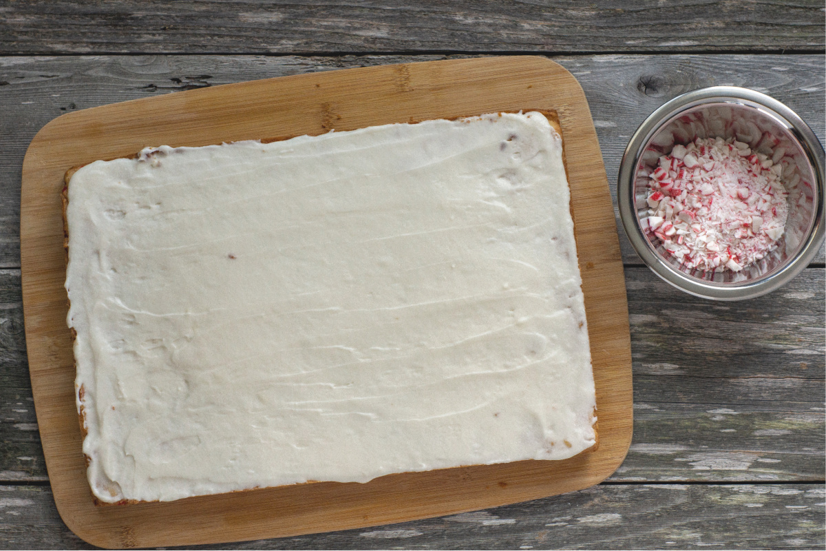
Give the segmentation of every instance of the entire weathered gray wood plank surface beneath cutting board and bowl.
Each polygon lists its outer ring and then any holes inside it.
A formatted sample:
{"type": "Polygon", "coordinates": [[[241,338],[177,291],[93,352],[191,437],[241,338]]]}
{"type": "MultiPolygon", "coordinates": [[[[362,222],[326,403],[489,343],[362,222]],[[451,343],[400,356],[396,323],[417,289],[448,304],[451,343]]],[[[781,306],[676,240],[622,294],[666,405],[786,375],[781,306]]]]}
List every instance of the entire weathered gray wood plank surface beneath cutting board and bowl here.
{"type": "MultiPolygon", "coordinates": [[[[75,109],[287,74],[551,55],[584,88],[612,188],[648,113],[714,84],[785,102],[824,141],[823,2],[0,0],[0,549],[86,549],[55,510],[26,368],[23,155],[75,109]]],[[[824,251],[786,287],[707,302],[621,229],[634,443],[586,491],[466,515],[211,549],[822,549],[824,251]]]]}

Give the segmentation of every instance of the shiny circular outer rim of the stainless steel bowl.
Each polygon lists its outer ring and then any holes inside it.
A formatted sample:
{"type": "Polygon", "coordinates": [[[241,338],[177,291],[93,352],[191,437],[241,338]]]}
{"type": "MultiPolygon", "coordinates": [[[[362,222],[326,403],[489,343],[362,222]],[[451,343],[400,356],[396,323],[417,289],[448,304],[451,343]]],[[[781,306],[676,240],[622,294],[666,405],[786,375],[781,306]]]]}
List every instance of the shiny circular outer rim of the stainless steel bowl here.
{"type": "Polygon", "coordinates": [[[688,292],[695,297],[719,301],[736,301],[759,297],[776,290],[788,283],[814,259],[824,242],[824,165],[826,153],[814,131],[789,107],[764,93],[736,86],[712,86],[682,93],[662,104],[638,127],[631,136],[619,164],[617,178],[617,202],[619,219],[631,245],[643,259],[648,268],[667,283],[688,292]],[[790,131],[800,143],[814,169],[814,224],[809,230],[805,243],[794,259],[791,259],[776,272],[766,277],[756,278],[742,283],[714,283],[692,278],[666,262],[653,248],[643,234],[635,208],[634,178],[637,164],[644,146],[662,126],[672,121],[681,112],[709,103],[732,103],[756,108],[764,115],[770,116],[790,131]]]}

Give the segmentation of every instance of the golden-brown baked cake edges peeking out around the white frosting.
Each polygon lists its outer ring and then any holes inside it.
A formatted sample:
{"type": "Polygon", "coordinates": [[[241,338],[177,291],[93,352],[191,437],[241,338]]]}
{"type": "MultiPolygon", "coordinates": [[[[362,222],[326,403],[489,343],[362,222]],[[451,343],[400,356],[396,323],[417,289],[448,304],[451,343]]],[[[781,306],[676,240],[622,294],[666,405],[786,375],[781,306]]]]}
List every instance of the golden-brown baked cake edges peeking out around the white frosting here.
{"type": "MultiPolygon", "coordinates": [[[[501,114],[501,113],[518,113],[518,112],[520,112],[520,111],[502,111],[502,112],[499,112],[499,113],[501,114]]],[[[562,146],[563,146],[563,168],[565,169],[565,177],[566,177],[566,180],[567,180],[568,170],[567,170],[567,159],[565,159],[565,139],[564,139],[564,136],[563,136],[562,126],[559,124],[558,113],[556,111],[548,110],[548,109],[525,109],[525,110],[522,110],[521,112],[539,112],[539,113],[542,113],[542,115],[544,115],[545,118],[548,119],[548,123],[550,123],[550,125],[553,126],[553,130],[555,130],[557,132],[557,134],[559,135],[559,137],[562,139],[562,142],[563,142],[562,143],[562,146]]],[[[482,115],[482,114],[487,114],[487,113],[480,113],[480,115],[482,115]]],[[[447,117],[443,120],[455,121],[455,120],[458,120],[458,119],[469,118],[469,117],[472,117],[472,116],[478,116],[478,115],[451,116],[451,117],[447,117]]],[[[414,118],[411,118],[410,120],[407,121],[407,123],[408,124],[416,124],[416,123],[424,122],[424,121],[427,121],[427,120],[432,120],[432,119],[414,119],[414,118]]],[[[274,141],[291,140],[292,138],[295,138],[295,137],[297,137],[297,135],[280,136],[278,138],[263,138],[261,140],[261,143],[269,144],[269,143],[272,143],[274,141]]],[[[139,156],[139,154],[135,153],[135,154],[128,155],[126,157],[121,157],[121,159],[137,159],[138,156],[139,156]]],[[[61,188],[61,191],[60,191],[60,200],[61,200],[61,203],[62,203],[62,211],[63,211],[63,237],[64,237],[63,238],[63,249],[64,249],[64,254],[65,254],[64,262],[65,262],[66,266],[69,265],[69,219],[66,216],[66,209],[69,207],[69,182],[71,181],[72,177],[74,176],[74,173],[76,173],[79,169],[82,169],[83,166],[85,166],[85,165],[78,164],[78,165],[70,168],[69,170],[67,170],[66,173],[64,173],[64,185],[63,185],[63,188],[61,188]]],[[[569,183],[569,185],[570,185],[570,183],[569,183]]],[[[569,210],[571,211],[571,217],[572,217],[573,223],[574,223],[574,240],[576,240],[576,238],[577,238],[577,230],[576,230],[577,221],[573,216],[573,207],[572,206],[569,207],[569,210]]],[[[69,298],[68,297],[66,299],[66,306],[67,306],[67,308],[69,307],[69,298]]],[[[74,345],[74,340],[77,338],[78,333],[77,333],[77,331],[74,330],[74,327],[70,327],[69,330],[71,331],[72,344],[74,345]]],[[[75,363],[74,365],[75,365],[75,370],[77,370],[77,363],[75,363]]],[[[83,388],[83,385],[78,387],[75,392],[77,392],[77,395],[78,395],[78,403],[81,404],[81,406],[79,408],[79,411],[78,411],[78,423],[80,425],[80,433],[81,433],[81,436],[83,437],[82,438],[82,440],[83,440],[83,439],[86,439],[86,435],[87,435],[86,412],[83,410],[83,394],[85,392],[85,390],[83,388]]],[[[596,411],[594,411],[594,416],[596,417],[596,411]]],[[[590,453],[596,452],[596,450],[599,448],[599,446],[600,446],[599,420],[594,421],[593,427],[594,427],[594,439],[595,439],[594,445],[592,445],[591,448],[582,450],[582,452],[577,454],[577,456],[582,455],[582,454],[590,454],[590,453]]],[[[577,457],[577,456],[574,456],[574,457],[577,457]]],[[[86,466],[88,467],[89,463],[92,461],[92,458],[90,458],[87,454],[83,454],[83,458],[85,459],[86,466]]],[[[465,468],[465,467],[474,467],[474,466],[475,465],[459,465],[458,467],[454,467],[454,468],[465,468]]],[[[318,481],[308,481],[308,482],[304,482],[304,483],[305,484],[313,484],[315,482],[318,482],[318,481]]],[[[248,488],[248,489],[245,489],[245,490],[235,490],[235,491],[229,492],[229,493],[252,492],[254,490],[259,490],[259,489],[261,489],[261,488],[253,487],[253,488],[248,488]]],[[[127,504],[130,504],[130,503],[150,503],[150,501],[139,501],[139,500],[131,500],[131,499],[126,499],[126,500],[121,500],[121,501],[116,501],[114,503],[110,503],[110,502],[107,502],[107,501],[100,501],[99,499],[97,499],[97,496],[95,496],[92,493],[92,488],[91,487],[89,487],[89,493],[92,494],[92,500],[93,500],[93,502],[96,506],[117,506],[117,505],[127,505],[127,504]]],[[[184,498],[184,499],[187,499],[187,498],[184,498]]]]}

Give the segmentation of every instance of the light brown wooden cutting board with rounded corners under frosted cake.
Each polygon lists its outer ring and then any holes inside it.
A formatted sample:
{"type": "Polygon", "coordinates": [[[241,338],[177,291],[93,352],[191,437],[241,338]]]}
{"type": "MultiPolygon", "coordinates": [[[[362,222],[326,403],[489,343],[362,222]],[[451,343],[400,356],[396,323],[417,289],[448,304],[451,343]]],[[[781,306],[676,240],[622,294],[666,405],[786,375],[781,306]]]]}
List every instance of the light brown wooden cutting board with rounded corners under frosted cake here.
{"type": "Polygon", "coordinates": [[[589,487],[628,451],[628,305],[596,131],[577,80],[542,57],[458,59],[227,84],[72,112],[32,140],[23,163],[21,261],[26,346],[46,467],[66,525],[90,544],[210,544],[448,515],[589,487]],[[596,378],[599,449],[524,461],[323,482],[169,503],[93,505],[74,403],[60,205],[64,172],[150,145],[209,145],[520,109],[556,110],[596,378]]]}

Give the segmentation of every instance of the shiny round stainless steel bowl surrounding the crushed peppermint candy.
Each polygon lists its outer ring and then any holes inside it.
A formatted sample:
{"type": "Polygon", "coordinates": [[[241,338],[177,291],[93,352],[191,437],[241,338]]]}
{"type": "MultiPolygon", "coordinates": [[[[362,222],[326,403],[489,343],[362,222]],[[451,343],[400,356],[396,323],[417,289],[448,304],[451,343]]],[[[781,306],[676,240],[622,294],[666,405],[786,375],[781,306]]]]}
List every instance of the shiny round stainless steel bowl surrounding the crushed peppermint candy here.
{"type": "Polygon", "coordinates": [[[814,132],[789,107],[747,88],[715,86],[684,93],[653,112],[631,136],[619,165],[619,216],[648,268],[697,297],[734,301],[774,291],[805,268],[824,242],[824,155],[814,132]],[[789,192],[786,231],[765,258],[734,273],[686,268],[640,226],[648,174],[661,155],[696,137],[734,137],[763,153],[784,148],[789,192]]]}

